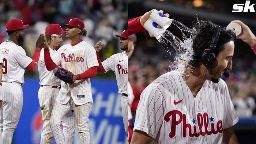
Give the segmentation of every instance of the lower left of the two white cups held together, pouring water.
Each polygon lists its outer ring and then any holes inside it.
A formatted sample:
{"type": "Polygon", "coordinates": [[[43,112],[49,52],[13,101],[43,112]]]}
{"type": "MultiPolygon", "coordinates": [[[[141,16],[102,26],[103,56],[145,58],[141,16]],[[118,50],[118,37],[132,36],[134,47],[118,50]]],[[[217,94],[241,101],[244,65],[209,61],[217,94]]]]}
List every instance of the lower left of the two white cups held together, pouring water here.
{"type": "Polygon", "coordinates": [[[157,23],[153,22],[153,20],[148,19],[146,23],[144,23],[144,28],[148,30],[151,34],[154,35],[155,38],[159,39],[162,37],[163,33],[166,31],[165,29],[157,28],[157,23]]]}

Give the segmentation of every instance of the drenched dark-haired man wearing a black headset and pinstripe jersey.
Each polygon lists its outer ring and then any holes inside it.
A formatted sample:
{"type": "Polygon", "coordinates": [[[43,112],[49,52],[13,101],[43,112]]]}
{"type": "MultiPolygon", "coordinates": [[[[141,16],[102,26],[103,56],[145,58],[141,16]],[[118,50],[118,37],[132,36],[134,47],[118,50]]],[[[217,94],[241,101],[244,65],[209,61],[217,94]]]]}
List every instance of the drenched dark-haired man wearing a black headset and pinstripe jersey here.
{"type": "Polygon", "coordinates": [[[211,21],[199,21],[194,29],[190,64],[195,69],[167,72],[146,87],[136,111],[132,144],[238,143],[231,128],[238,117],[220,79],[232,69],[236,34],[211,21]]]}

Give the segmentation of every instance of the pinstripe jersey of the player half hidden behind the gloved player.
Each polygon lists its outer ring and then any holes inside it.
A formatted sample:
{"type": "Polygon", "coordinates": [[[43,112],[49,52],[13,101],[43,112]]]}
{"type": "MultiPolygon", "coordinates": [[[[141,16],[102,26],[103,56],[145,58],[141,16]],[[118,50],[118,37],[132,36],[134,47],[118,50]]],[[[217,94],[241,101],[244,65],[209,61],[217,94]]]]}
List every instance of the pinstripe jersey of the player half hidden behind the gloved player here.
{"type": "MultiPolygon", "coordinates": [[[[50,56],[54,57],[55,55],[58,55],[59,53],[56,52],[56,50],[50,49],[50,56]]],[[[57,69],[57,68],[56,68],[57,69]]],[[[40,57],[38,61],[38,73],[39,73],[39,79],[40,85],[44,86],[58,86],[61,83],[61,80],[58,79],[56,76],[54,76],[54,72],[56,69],[52,71],[48,71],[45,67],[45,58],[44,58],[44,49],[41,49],[40,57]]]]}

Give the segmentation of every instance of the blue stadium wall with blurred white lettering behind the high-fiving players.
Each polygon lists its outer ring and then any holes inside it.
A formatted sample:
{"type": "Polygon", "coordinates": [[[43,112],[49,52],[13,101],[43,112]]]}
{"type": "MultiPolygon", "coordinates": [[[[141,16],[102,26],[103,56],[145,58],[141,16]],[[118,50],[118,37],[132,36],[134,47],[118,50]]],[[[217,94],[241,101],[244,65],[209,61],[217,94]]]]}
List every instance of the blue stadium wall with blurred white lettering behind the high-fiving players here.
{"type": "MultiPolygon", "coordinates": [[[[89,115],[92,144],[125,144],[125,130],[121,112],[121,95],[116,80],[91,79],[94,104],[89,115]]],[[[25,79],[24,102],[13,144],[39,144],[42,116],[37,92],[38,79],[25,79]]],[[[80,143],[78,132],[74,144],[80,143]]],[[[55,144],[53,139],[52,144],[55,144]]]]}

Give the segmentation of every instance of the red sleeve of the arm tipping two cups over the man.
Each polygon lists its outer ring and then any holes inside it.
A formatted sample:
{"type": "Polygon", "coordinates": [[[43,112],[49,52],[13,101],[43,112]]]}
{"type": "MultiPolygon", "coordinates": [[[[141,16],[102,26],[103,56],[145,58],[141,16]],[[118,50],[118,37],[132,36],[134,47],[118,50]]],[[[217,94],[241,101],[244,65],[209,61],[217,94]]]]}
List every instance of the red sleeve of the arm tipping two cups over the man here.
{"type": "Polygon", "coordinates": [[[141,17],[142,16],[133,19],[128,19],[128,35],[145,31],[144,27],[140,24],[141,17]]]}

